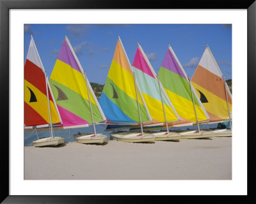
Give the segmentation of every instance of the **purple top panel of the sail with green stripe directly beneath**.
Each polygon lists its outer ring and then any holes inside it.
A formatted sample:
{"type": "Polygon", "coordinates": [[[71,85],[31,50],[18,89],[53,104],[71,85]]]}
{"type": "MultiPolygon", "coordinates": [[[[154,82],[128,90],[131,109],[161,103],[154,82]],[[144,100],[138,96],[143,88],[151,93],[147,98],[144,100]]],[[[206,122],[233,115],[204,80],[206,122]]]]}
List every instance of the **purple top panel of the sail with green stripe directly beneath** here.
{"type": "Polygon", "coordinates": [[[181,77],[186,78],[169,49],[164,56],[161,67],[167,68],[168,70],[179,74],[181,77]]]}

